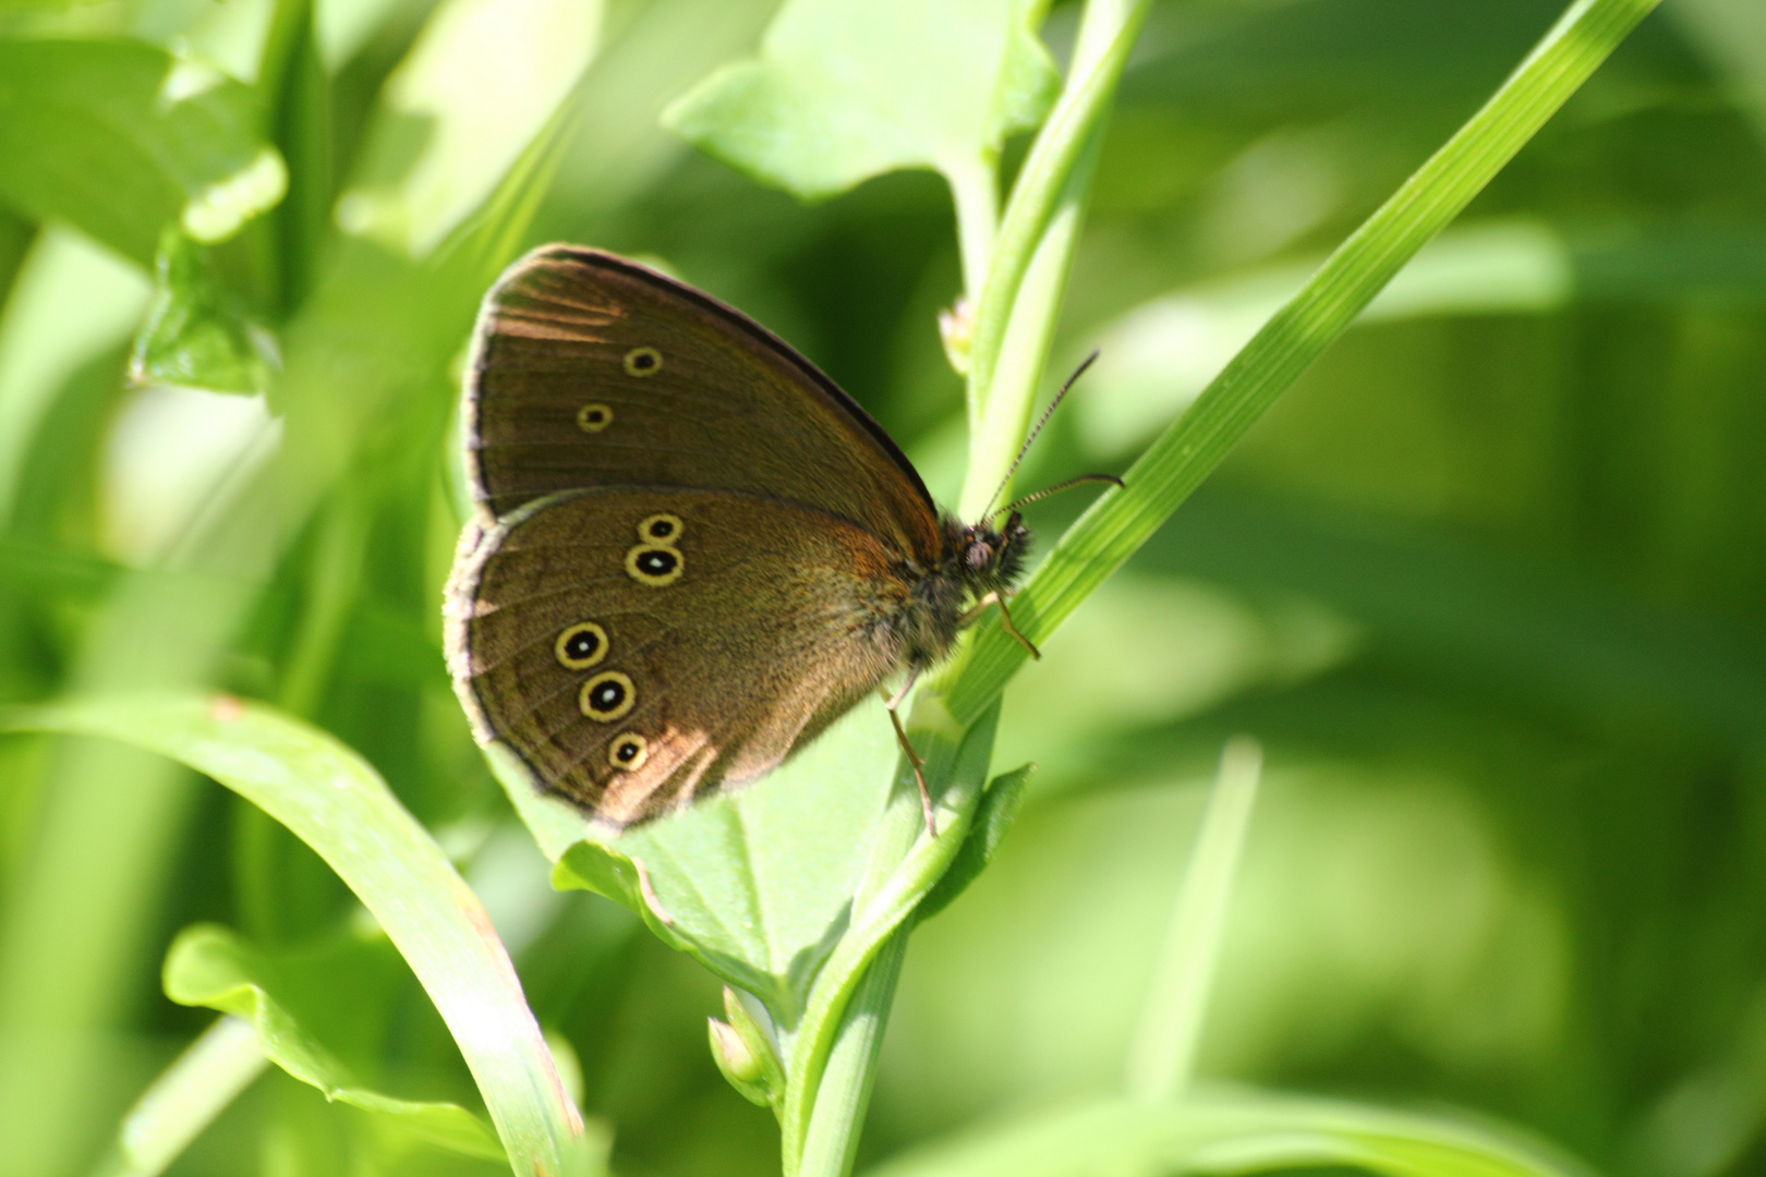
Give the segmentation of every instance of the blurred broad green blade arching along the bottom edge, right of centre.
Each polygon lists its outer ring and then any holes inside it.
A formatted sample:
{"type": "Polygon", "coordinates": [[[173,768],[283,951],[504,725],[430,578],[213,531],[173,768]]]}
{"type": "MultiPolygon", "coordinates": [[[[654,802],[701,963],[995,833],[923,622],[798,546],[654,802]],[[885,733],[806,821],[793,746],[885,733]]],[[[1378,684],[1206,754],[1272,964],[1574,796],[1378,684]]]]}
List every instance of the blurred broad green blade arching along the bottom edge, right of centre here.
{"type": "Polygon", "coordinates": [[[1330,1099],[1192,1096],[1040,1112],[885,1163],[869,1177],[1084,1177],[1360,1168],[1386,1177],[1559,1177],[1577,1172],[1489,1129],[1330,1099]]]}

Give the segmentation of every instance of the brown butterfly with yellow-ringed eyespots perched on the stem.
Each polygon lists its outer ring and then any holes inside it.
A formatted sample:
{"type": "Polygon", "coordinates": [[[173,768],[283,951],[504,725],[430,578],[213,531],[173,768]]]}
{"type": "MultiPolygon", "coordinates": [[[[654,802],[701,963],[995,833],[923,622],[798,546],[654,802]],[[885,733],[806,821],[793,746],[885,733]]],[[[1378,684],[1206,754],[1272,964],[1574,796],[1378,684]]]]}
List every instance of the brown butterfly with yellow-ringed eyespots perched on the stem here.
{"type": "Polygon", "coordinates": [[[908,685],[989,603],[1017,635],[1015,510],[940,514],[809,360],[613,254],[547,245],[498,279],[464,439],[454,686],[480,743],[611,826],[766,773],[899,671],[918,776],[908,685]]]}

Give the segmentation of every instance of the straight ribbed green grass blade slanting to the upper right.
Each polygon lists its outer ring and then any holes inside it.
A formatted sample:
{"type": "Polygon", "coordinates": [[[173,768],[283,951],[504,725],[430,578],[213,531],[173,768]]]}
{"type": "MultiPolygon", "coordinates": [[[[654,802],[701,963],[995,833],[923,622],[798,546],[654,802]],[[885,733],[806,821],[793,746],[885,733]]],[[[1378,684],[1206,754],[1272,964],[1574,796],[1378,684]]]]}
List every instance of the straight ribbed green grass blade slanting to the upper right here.
{"type": "MultiPolygon", "coordinates": [[[[1459,215],[1547,118],[1655,9],[1658,0],[1577,0],[1540,44],[1287,305],[1227,364],[1125,475],[1060,538],[1012,600],[1031,641],[1047,637],[1171,517],[1275,399],[1436,233],[1459,215]]],[[[1008,256],[1012,214],[996,265],[1008,256]]],[[[980,715],[1024,660],[1008,635],[984,628],[950,672],[948,708],[980,715]]]]}

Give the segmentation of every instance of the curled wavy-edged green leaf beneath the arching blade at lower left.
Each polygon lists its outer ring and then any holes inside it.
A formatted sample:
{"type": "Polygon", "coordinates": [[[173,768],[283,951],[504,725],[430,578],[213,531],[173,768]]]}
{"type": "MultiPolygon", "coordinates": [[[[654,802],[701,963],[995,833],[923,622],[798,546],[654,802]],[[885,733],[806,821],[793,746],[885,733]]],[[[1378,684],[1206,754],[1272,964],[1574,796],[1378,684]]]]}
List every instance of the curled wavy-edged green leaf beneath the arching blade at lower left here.
{"type": "MultiPolygon", "coordinates": [[[[350,937],[316,953],[290,960],[260,953],[226,928],[196,925],[178,933],[166,955],[166,997],[184,1006],[208,1006],[253,1025],[265,1057],[304,1083],[351,1106],[389,1117],[392,1131],[443,1149],[503,1159],[496,1135],[456,1103],[411,1101],[371,1091],[302,1016],[313,1006],[336,1008],[339,992],[350,1004],[385,1006],[399,960],[385,941],[350,937]],[[390,965],[390,967],[389,967],[390,965]]],[[[403,969],[399,969],[403,971],[403,969]]],[[[341,1032],[376,1027],[383,1018],[339,1016],[341,1032]]]]}

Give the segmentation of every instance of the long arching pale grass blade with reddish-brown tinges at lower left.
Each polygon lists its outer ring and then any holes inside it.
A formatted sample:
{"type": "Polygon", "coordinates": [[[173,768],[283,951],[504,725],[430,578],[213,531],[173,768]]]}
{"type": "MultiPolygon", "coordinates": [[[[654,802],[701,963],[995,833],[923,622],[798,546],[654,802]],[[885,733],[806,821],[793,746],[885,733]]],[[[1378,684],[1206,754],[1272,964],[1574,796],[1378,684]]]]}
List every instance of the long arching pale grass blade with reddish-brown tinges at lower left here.
{"type": "MultiPolygon", "coordinates": [[[[83,699],[0,727],[104,736],[182,761],[288,826],[336,870],[422,981],[517,1172],[597,1170],[521,983],[477,896],[380,775],[325,732],[230,697],[83,699]]],[[[215,956],[205,956],[210,965],[215,956]]],[[[180,974],[180,985],[189,978],[180,974]]]]}

